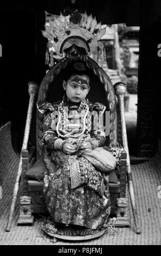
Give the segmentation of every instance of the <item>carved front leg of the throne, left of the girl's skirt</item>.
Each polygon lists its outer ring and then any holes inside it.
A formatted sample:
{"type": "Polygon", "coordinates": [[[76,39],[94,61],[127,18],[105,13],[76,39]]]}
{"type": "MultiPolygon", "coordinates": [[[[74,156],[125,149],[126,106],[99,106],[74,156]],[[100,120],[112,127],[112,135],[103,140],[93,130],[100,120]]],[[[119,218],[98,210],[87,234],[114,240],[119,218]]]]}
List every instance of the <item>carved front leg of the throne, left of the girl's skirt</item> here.
{"type": "Polygon", "coordinates": [[[31,210],[31,198],[20,197],[20,215],[17,224],[33,224],[34,216],[31,210]]]}

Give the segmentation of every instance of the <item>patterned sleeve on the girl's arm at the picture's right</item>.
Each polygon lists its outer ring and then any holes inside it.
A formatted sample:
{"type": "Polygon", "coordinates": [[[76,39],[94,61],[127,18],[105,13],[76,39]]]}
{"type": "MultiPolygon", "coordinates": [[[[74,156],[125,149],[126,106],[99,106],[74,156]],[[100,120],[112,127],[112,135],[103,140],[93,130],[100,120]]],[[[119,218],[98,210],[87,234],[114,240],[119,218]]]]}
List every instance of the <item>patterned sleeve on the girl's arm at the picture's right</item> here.
{"type": "Polygon", "coordinates": [[[91,130],[91,146],[92,149],[102,147],[106,141],[103,127],[103,113],[106,107],[96,102],[92,107],[92,130],[91,130]]]}

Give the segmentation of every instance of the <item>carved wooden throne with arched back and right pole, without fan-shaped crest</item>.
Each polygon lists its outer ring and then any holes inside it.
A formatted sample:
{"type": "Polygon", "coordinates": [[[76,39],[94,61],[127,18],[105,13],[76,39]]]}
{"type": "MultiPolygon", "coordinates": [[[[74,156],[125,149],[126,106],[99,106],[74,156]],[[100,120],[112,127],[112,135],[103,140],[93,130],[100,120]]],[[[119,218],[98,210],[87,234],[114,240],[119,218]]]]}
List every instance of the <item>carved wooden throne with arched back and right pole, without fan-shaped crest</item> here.
{"type": "MultiPolygon", "coordinates": [[[[39,92],[38,101],[54,102],[61,100],[63,97],[62,81],[66,68],[73,65],[79,57],[69,57],[61,59],[56,65],[48,71],[42,80],[39,92]]],[[[109,175],[109,190],[110,199],[112,202],[111,215],[116,216],[116,225],[128,226],[127,215],[127,181],[129,193],[133,208],[134,221],[136,231],[139,234],[138,217],[135,208],[135,198],[133,192],[131,167],[129,163],[129,153],[127,145],[126,126],[124,118],[124,104],[123,95],[126,92],[126,85],[123,83],[116,83],[113,87],[108,75],[94,60],[90,57],[84,60],[91,74],[91,89],[89,93],[89,100],[91,102],[101,102],[106,106],[106,110],[110,112],[110,127],[109,135],[106,143],[115,145],[119,142],[124,149],[121,153],[120,170],[116,170],[110,177],[109,175]]],[[[37,111],[36,115],[36,160],[42,161],[44,146],[42,145],[43,135],[43,114],[37,111]]],[[[32,154],[31,154],[32,155],[32,154]]],[[[33,214],[43,214],[47,212],[44,196],[43,196],[43,180],[39,176],[32,177],[28,174],[29,162],[30,167],[34,163],[34,157],[28,157],[28,151],[22,150],[22,177],[23,177],[23,196],[21,197],[20,208],[21,214],[18,223],[31,223],[33,221],[33,214]],[[23,198],[31,204],[30,216],[27,212],[23,212],[23,198]],[[30,199],[30,200],[29,200],[30,199]]]]}

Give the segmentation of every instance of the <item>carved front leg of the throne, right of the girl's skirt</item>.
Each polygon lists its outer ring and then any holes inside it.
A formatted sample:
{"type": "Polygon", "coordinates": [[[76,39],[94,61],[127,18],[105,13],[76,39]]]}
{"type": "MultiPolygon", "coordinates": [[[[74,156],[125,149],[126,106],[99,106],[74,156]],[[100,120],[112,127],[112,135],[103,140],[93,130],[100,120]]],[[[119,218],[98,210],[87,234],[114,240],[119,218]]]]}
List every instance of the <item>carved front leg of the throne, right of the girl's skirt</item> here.
{"type": "Polygon", "coordinates": [[[127,217],[127,198],[117,198],[117,219],[115,222],[117,226],[129,226],[127,217]]]}

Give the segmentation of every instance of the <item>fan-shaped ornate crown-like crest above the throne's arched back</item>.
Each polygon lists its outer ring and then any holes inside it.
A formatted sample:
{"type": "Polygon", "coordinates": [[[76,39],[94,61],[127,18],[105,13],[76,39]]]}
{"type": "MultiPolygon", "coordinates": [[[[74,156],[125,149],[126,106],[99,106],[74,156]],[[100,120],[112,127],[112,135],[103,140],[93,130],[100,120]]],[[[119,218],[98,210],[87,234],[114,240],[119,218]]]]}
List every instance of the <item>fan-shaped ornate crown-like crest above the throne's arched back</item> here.
{"type": "Polygon", "coordinates": [[[90,55],[98,46],[98,40],[106,33],[92,15],[80,14],[77,11],[69,16],[60,16],[49,21],[42,34],[48,39],[48,47],[54,48],[58,56],[69,57],[72,54],[90,55]]]}

